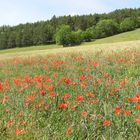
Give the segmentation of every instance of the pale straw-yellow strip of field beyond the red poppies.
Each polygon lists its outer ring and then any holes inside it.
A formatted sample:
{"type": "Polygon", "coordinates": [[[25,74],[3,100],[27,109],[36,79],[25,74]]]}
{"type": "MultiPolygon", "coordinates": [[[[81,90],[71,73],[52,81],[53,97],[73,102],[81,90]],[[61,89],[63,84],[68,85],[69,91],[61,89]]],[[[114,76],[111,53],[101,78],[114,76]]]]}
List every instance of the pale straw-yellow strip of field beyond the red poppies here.
{"type": "Polygon", "coordinates": [[[36,55],[46,56],[48,54],[65,54],[71,52],[97,52],[103,51],[104,53],[110,53],[112,51],[123,50],[125,48],[139,49],[140,41],[126,41],[118,43],[107,43],[107,44],[96,44],[96,45],[81,45],[75,47],[67,48],[54,48],[46,50],[30,50],[23,52],[13,52],[13,53],[2,53],[0,54],[0,60],[6,60],[11,58],[20,57],[34,57],[36,55]]]}

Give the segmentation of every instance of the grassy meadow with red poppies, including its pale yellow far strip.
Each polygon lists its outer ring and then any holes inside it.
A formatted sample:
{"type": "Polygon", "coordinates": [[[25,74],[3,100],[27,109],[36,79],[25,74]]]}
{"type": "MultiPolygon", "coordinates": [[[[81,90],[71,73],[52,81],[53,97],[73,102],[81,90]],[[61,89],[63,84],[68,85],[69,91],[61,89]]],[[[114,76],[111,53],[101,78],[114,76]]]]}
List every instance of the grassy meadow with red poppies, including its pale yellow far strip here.
{"type": "Polygon", "coordinates": [[[0,139],[140,139],[140,41],[4,51],[0,139]]]}

